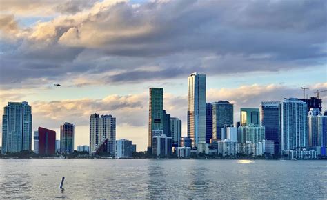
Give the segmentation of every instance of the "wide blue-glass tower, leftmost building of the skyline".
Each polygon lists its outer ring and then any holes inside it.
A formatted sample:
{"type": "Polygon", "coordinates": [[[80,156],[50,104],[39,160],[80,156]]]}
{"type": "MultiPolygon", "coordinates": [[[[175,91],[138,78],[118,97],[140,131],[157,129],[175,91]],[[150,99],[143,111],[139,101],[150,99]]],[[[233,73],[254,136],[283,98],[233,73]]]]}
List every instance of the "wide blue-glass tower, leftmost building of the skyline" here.
{"type": "Polygon", "coordinates": [[[8,102],[2,116],[2,154],[32,150],[32,108],[28,102],[8,102]]]}

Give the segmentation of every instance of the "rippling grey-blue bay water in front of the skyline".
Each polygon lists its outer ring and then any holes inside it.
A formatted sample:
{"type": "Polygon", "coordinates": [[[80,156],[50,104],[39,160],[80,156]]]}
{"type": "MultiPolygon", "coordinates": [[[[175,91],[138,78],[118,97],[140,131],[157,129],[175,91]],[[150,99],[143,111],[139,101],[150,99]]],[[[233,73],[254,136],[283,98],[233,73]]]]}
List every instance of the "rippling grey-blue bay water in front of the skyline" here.
{"type": "Polygon", "coordinates": [[[327,199],[327,161],[0,159],[3,198],[327,199]]]}

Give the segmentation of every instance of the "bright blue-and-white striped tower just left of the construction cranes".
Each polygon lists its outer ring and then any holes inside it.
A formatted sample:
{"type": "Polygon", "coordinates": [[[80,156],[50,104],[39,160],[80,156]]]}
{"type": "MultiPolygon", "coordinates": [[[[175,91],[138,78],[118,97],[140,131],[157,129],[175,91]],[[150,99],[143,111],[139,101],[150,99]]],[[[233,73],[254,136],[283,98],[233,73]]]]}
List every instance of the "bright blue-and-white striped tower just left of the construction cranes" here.
{"type": "Polygon", "coordinates": [[[308,146],[306,102],[297,98],[281,103],[281,150],[308,146]]]}

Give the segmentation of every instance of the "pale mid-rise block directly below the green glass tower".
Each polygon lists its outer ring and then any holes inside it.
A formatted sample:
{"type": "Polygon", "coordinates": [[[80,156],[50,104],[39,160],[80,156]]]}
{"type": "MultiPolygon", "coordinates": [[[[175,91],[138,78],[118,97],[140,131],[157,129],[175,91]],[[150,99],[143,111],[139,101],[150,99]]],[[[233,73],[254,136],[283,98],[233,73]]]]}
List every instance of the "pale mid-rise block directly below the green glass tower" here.
{"type": "Polygon", "coordinates": [[[264,139],[264,134],[264,126],[253,124],[247,126],[239,126],[237,139],[239,143],[246,143],[247,141],[258,143],[264,139]]]}

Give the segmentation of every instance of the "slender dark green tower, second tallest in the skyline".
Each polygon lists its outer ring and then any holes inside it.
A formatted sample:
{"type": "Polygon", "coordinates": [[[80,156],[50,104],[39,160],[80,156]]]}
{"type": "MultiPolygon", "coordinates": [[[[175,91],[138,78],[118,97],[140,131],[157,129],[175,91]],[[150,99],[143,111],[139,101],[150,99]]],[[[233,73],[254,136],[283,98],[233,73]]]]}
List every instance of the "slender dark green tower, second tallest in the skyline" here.
{"type": "Polygon", "coordinates": [[[164,89],[150,88],[148,152],[152,147],[152,130],[164,129],[164,89]]]}

